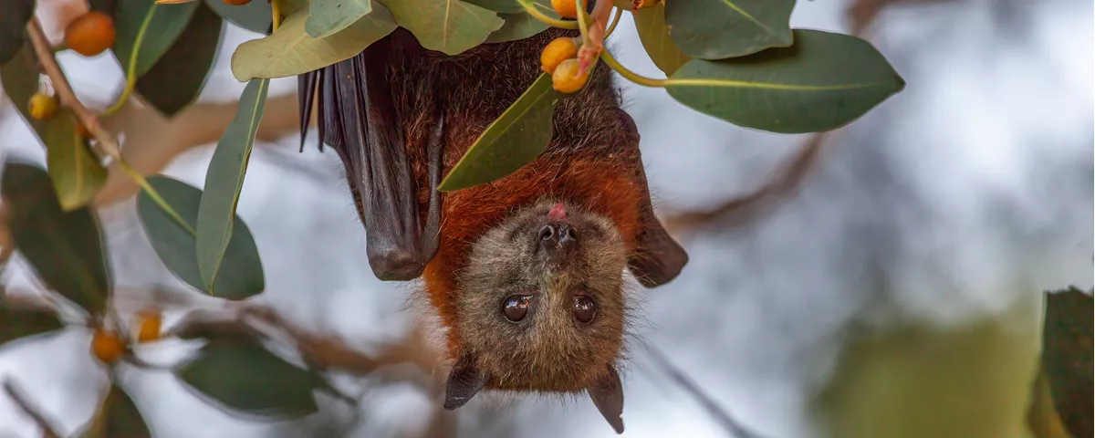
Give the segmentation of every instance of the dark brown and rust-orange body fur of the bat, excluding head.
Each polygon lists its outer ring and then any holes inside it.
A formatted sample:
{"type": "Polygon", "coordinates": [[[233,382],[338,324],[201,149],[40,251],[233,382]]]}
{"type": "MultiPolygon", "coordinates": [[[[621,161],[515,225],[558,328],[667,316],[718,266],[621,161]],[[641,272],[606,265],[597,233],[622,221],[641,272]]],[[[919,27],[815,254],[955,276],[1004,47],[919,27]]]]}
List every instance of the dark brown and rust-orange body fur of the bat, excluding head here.
{"type": "MultiPolygon", "coordinates": [[[[576,31],[552,28],[531,38],[486,44],[449,57],[423,49],[410,33],[392,35],[388,78],[397,117],[405,126],[407,153],[418,181],[420,205],[428,199],[427,135],[442,108],[448,173],[482,131],[542,73],[540,51],[576,31]]],[[[423,277],[441,322],[450,327],[450,356],[460,338],[453,293],[471,244],[516,209],[545,197],[563,199],[610,218],[632,251],[642,230],[644,197],[638,138],[621,117],[621,96],[611,71],[597,66],[579,92],[563,99],[553,115],[553,137],[540,158],[489,184],[443,194],[440,250],[423,277]]],[[[425,209],[423,209],[425,210],[425,209]]]]}

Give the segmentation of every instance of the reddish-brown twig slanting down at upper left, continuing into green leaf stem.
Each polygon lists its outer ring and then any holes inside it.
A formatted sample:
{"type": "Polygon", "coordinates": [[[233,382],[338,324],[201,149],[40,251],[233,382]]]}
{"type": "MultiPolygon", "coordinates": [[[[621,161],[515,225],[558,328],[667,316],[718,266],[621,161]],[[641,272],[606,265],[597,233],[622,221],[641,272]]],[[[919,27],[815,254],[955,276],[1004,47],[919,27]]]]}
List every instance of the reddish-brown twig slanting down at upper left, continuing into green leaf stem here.
{"type": "MultiPolygon", "coordinates": [[[[76,96],[76,92],[72,91],[72,84],[69,83],[68,78],[65,77],[65,72],[61,71],[61,67],[57,65],[57,58],[54,57],[53,49],[49,47],[49,41],[46,39],[46,33],[42,30],[42,23],[38,22],[37,18],[32,18],[31,22],[26,24],[26,33],[31,37],[31,46],[34,47],[34,54],[38,57],[38,64],[42,65],[42,70],[46,72],[49,80],[54,84],[54,92],[60,99],[61,104],[68,106],[76,114],[80,124],[88,128],[91,136],[95,138],[94,148],[100,154],[108,155],[118,162],[118,165],[129,174],[134,181],[137,182],[145,189],[148,195],[157,201],[160,208],[163,208],[168,215],[171,215],[180,226],[184,229],[192,230],[189,223],[182,220],[174,209],[171,208],[168,203],[160,197],[160,194],[148,184],[148,181],[137,173],[132,168],[126,163],[126,160],[122,158],[122,151],[118,148],[118,140],[111,135],[106,128],[99,123],[99,117],[83,103],[80,102],[76,96]]],[[[192,231],[193,232],[193,231],[192,231]]]]}

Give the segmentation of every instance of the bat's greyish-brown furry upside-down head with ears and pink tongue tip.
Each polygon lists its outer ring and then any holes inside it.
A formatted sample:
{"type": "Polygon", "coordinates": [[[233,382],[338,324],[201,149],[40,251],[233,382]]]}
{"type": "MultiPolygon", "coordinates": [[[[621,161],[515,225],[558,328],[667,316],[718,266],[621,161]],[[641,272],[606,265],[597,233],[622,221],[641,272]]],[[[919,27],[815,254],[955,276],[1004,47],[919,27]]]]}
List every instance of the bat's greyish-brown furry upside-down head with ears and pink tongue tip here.
{"type": "Polygon", "coordinates": [[[612,220],[572,204],[543,201],[487,231],[460,276],[463,351],[449,376],[446,406],[484,387],[587,390],[622,430],[614,364],[623,343],[626,264],[612,220]]]}

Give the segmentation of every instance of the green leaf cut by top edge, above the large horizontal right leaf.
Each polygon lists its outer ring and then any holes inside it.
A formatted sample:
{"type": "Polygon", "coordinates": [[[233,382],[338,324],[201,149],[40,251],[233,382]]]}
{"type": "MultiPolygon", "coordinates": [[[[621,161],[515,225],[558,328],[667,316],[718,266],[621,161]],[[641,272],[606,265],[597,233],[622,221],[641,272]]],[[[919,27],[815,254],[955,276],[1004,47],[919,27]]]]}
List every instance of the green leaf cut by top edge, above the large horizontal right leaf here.
{"type": "Polygon", "coordinates": [[[791,46],[793,9],[795,0],[667,1],[666,23],[685,54],[725,59],[791,46]]]}

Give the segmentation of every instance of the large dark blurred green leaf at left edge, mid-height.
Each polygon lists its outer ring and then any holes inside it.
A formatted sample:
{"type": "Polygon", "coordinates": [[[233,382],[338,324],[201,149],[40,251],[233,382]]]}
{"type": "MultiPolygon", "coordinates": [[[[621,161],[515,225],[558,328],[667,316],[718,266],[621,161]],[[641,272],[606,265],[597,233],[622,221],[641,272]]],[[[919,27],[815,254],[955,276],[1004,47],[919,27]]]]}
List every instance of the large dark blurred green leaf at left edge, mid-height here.
{"type": "Polygon", "coordinates": [[[64,211],[49,175],[33,165],[9,163],[2,184],[15,249],[48,288],[92,314],[102,312],[111,285],[91,209],[64,211]]]}

